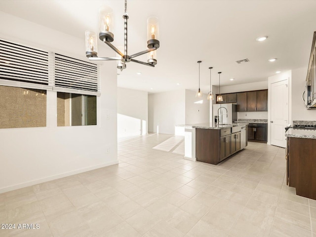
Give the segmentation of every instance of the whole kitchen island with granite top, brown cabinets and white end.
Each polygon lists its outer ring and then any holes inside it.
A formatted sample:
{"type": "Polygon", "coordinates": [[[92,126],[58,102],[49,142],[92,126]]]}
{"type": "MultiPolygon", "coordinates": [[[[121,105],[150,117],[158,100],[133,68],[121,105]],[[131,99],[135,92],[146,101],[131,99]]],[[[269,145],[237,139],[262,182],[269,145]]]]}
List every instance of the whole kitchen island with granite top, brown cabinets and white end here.
{"type": "Polygon", "coordinates": [[[247,123],[179,126],[185,127],[185,159],[218,164],[247,145],[247,123]]]}

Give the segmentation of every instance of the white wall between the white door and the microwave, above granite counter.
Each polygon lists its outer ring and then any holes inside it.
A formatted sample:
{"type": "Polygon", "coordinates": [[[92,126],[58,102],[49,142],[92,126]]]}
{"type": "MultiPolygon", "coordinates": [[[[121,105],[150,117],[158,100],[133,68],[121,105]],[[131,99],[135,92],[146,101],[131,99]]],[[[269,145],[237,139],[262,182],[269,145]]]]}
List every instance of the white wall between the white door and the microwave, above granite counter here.
{"type": "Polygon", "coordinates": [[[305,90],[307,67],[292,70],[292,121],[293,120],[316,120],[316,109],[307,110],[302,100],[305,90]]]}

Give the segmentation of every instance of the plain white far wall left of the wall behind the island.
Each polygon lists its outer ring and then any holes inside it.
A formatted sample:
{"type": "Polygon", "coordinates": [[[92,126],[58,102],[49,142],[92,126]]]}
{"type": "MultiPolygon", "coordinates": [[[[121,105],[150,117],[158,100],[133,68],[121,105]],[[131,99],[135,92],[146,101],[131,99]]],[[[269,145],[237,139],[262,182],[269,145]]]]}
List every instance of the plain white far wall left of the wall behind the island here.
{"type": "Polygon", "coordinates": [[[148,131],[175,134],[175,125],[185,124],[185,90],[148,95],[148,131]]]}

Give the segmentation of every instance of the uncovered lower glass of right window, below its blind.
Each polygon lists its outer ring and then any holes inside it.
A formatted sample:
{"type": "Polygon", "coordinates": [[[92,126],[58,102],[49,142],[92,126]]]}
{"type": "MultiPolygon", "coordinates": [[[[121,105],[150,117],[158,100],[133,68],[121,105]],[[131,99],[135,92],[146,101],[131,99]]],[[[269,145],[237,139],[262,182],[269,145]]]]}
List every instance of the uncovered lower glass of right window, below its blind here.
{"type": "Polygon", "coordinates": [[[57,126],[97,124],[95,95],[57,92],[57,126]]]}

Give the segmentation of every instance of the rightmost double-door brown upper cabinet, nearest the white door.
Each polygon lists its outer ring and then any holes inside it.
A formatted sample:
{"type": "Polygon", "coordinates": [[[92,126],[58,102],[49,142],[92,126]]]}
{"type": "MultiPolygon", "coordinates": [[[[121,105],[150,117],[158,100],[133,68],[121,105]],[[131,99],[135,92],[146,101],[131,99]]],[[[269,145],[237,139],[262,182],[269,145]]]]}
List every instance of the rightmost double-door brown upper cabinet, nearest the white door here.
{"type": "Polygon", "coordinates": [[[268,111],[268,90],[248,91],[247,111],[268,111]]]}

